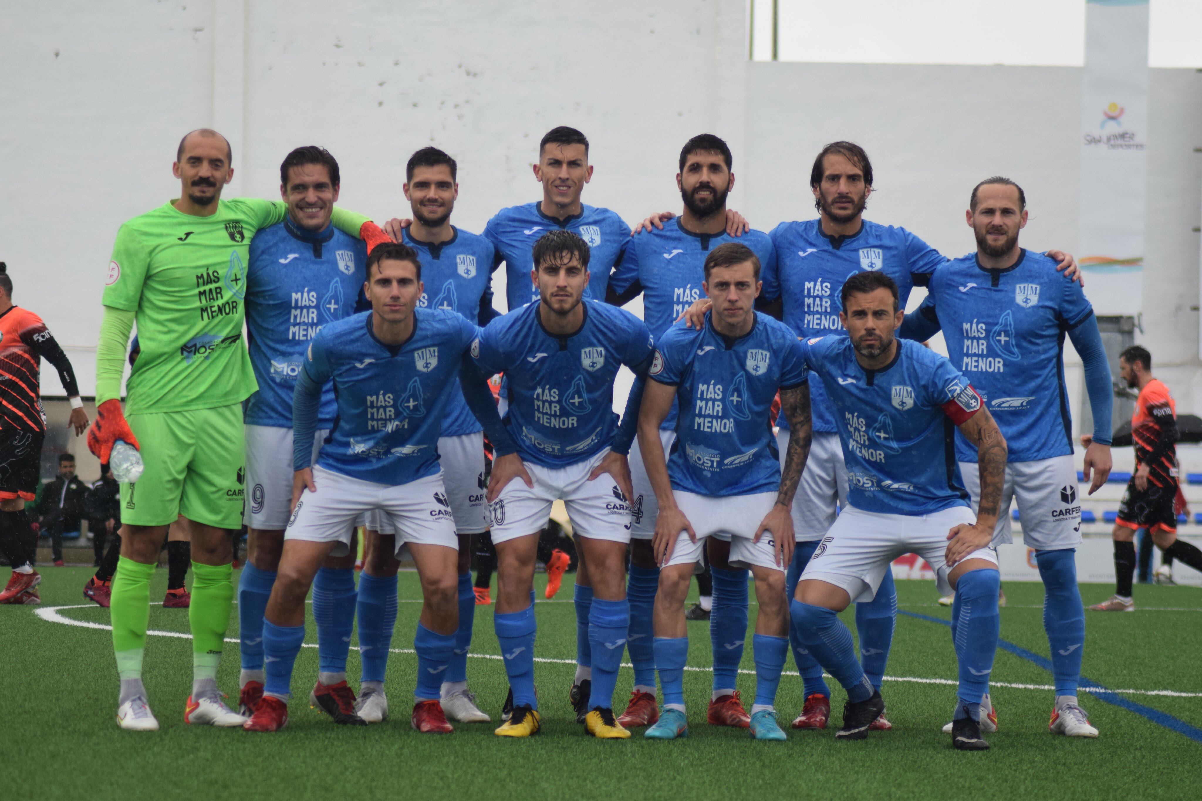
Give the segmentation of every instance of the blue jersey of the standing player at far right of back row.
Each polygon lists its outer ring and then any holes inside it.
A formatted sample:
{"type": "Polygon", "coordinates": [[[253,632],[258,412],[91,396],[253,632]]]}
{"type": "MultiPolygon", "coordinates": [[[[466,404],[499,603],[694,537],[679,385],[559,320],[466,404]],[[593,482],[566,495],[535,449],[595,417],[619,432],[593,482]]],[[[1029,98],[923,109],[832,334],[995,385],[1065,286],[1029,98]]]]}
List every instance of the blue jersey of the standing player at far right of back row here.
{"type": "MultiPolygon", "coordinates": [[[[1008,461],[1072,453],[1064,337],[1094,309],[1054,259],[1024,250],[1013,267],[987,270],[969,253],[935,270],[917,313],[938,319],[952,363],[1006,437],[1008,461]]],[[[958,432],[956,458],[976,461],[958,432]]]]}

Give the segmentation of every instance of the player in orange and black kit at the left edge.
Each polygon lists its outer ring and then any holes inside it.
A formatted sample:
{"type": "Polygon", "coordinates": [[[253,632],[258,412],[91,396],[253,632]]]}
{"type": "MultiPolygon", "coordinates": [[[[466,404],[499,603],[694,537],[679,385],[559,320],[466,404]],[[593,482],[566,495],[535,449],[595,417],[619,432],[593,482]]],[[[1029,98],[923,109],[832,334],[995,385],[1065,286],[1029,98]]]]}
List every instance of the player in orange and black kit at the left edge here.
{"type": "Polygon", "coordinates": [[[12,279],[0,262],[0,550],[12,576],[0,592],[0,604],[36,604],[42,576],[34,569],[37,534],[25,514],[25,501],[37,492],[46,437],[46,413],[38,388],[41,359],[54,365],[71,399],[76,436],[88,428],[75,371],[42,318],[12,305],[12,279]]]}

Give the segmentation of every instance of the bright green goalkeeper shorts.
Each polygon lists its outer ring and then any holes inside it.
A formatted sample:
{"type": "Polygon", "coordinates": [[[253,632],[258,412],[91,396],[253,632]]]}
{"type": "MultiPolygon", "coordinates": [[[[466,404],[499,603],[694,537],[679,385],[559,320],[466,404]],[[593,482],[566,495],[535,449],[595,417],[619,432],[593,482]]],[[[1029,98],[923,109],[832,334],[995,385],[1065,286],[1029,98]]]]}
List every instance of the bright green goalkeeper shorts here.
{"type": "Polygon", "coordinates": [[[121,522],[167,526],[184,515],[218,528],[242,527],[242,404],[130,414],[129,423],[145,470],[137,484],[121,484],[121,522]]]}

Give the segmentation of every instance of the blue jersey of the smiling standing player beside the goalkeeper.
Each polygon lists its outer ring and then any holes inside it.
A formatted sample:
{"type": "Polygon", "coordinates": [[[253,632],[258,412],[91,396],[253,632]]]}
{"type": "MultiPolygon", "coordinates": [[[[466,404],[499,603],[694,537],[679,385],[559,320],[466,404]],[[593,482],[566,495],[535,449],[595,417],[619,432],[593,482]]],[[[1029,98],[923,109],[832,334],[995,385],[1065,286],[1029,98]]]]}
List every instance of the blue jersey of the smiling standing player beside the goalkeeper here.
{"type": "MultiPolygon", "coordinates": [[[[314,234],[291,219],[250,241],[246,334],[258,391],[245,407],[249,425],[292,428],[292,390],[317,330],[355,313],[367,268],[365,245],[328,226],[314,234]]],[[[321,396],[319,428],[334,422],[333,388],[321,396]]]]}

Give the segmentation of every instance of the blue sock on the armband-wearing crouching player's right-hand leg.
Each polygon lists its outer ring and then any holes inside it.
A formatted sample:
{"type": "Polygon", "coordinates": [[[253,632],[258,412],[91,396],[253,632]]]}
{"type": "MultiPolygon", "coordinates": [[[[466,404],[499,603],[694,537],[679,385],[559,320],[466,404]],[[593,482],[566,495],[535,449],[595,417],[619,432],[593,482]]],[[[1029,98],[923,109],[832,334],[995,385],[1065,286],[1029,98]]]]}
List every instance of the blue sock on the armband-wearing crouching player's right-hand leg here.
{"type": "Polygon", "coordinates": [[[960,666],[960,685],[956,695],[960,704],[980,704],[989,692],[989,671],[998,650],[998,570],[969,570],[956,584],[959,610],[956,624],[956,656],[960,666]]]}

